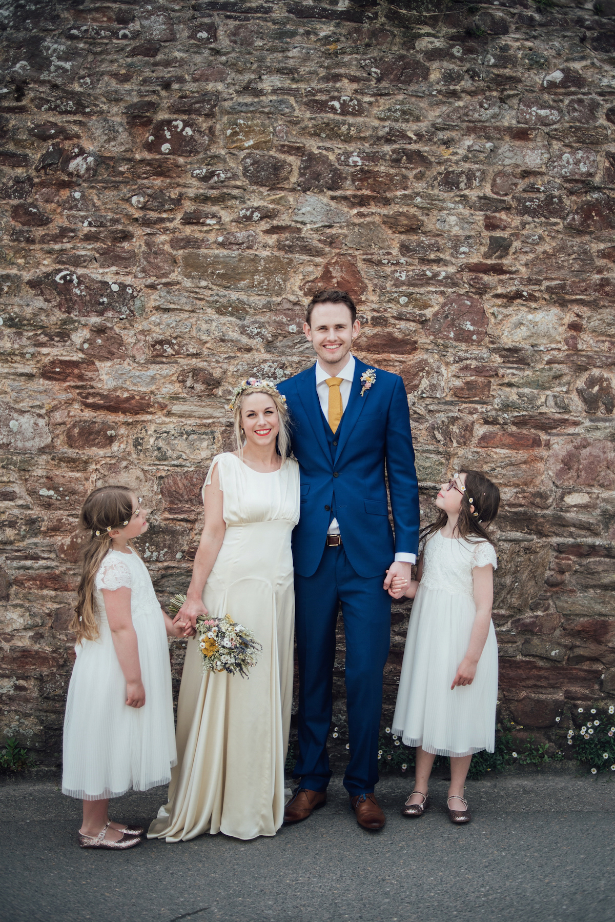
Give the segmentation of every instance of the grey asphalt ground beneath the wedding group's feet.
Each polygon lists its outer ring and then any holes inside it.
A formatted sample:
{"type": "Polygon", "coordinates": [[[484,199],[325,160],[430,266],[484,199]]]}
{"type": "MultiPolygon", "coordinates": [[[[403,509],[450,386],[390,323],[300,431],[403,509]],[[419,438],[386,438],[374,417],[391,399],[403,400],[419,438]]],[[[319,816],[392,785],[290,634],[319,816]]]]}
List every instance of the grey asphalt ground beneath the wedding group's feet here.
{"type": "MultiPolygon", "coordinates": [[[[0,917],[6,922],[585,922],[615,919],[615,783],[574,774],[488,775],[467,783],[474,814],[453,826],[446,782],[419,820],[410,779],[377,788],[384,829],[362,830],[333,779],[325,808],[276,836],[208,834],[127,852],[77,845],[80,801],[54,782],[0,786],[0,917]]],[[[165,788],[112,801],[142,825],[165,788]]]]}

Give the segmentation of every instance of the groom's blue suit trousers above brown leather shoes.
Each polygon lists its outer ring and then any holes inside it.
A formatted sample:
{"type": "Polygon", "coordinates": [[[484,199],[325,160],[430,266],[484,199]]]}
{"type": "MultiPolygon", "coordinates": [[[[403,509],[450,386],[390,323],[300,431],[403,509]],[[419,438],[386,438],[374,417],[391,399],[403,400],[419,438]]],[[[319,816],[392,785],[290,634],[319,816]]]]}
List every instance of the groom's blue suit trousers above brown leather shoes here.
{"type": "Polygon", "coordinates": [[[299,760],[293,776],[324,791],[331,771],[326,740],[333,712],[337,611],[346,634],[346,695],[350,761],[344,786],[350,797],[369,794],[378,781],[378,735],[383,671],[391,640],[391,599],[381,576],[360,576],[343,546],[325,547],[312,576],[295,573],[299,653],[299,760]]]}

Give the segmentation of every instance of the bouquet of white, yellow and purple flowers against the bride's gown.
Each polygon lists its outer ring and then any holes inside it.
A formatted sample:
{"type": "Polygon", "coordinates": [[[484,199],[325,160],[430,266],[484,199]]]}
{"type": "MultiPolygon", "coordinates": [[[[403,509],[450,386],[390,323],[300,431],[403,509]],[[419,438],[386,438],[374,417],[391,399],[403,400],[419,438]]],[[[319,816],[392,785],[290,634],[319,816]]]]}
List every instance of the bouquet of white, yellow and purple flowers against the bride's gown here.
{"type": "MultiPolygon", "coordinates": [[[[176,615],[185,600],[181,593],[172,597],[170,614],[176,615]]],[[[256,664],[263,649],[254,634],[229,615],[223,618],[200,616],[196,619],[196,635],[204,672],[228,672],[231,676],[239,673],[247,678],[248,670],[256,664]]]]}

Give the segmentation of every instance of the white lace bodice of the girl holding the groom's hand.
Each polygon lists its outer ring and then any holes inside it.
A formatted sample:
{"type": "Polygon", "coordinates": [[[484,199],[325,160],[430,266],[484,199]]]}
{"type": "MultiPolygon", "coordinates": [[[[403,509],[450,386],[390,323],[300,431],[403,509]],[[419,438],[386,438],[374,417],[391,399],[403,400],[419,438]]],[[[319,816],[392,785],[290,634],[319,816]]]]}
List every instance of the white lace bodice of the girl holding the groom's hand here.
{"type": "Polygon", "coordinates": [[[473,598],[472,570],[488,563],[497,569],[495,550],[489,541],[444,538],[437,531],[425,542],[420,585],[473,598]]]}

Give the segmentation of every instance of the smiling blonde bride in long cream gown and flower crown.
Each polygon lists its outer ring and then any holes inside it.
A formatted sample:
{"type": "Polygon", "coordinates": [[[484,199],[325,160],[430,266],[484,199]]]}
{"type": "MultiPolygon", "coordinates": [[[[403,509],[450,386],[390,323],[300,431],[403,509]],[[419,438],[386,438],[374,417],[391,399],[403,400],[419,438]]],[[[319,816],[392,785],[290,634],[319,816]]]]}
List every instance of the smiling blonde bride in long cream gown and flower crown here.
{"type": "MultiPolygon", "coordinates": [[[[188,641],[177,710],[178,764],[148,838],[275,835],[284,819],[292,700],[294,590],[290,533],[299,466],[288,457],[286,398],[249,378],[231,403],[237,451],[216,455],[203,487],[205,527],[176,621],[225,614],[263,652],[247,679],[203,673],[188,641]]],[[[192,628],[188,624],[191,622],[192,628]]]]}

